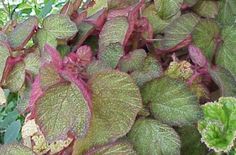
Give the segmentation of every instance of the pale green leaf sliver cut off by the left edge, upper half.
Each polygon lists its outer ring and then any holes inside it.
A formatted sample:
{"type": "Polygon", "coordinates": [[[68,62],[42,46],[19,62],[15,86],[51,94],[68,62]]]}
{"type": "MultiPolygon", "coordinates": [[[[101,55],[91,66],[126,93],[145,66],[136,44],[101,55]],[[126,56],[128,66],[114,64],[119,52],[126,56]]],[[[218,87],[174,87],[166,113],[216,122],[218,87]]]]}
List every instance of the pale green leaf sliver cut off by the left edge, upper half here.
{"type": "Polygon", "coordinates": [[[7,58],[9,56],[10,56],[9,47],[5,43],[0,42],[0,81],[1,81],[3,73],[4,73],[7,58]]]}

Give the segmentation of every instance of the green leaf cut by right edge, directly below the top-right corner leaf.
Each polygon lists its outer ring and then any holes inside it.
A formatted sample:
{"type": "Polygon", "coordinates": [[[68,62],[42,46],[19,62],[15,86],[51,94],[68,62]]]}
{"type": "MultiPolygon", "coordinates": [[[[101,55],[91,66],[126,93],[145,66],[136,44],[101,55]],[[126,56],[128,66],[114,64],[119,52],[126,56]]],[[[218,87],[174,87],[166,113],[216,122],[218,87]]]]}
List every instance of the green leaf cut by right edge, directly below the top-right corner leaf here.
{"type": "Polygon", "coordinates": [[[236,77],[236,27],[225,27],[222,30],[223,44],[219,49],[216,63],[229,70],[236,77]]]}

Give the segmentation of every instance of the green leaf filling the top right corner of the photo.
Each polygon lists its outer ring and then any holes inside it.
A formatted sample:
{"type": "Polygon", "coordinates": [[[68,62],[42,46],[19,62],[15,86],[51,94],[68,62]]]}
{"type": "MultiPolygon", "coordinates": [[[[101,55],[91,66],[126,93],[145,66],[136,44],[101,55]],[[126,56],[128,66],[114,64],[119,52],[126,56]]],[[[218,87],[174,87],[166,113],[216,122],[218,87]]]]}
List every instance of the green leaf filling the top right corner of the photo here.
{"type": "Polygon", "coordinates": [[[236,1],[235,0],[221,0],[219,1],[219,15],[218,21],[224,26],[231,26],[235,24],[236,20],[236,1]]]}

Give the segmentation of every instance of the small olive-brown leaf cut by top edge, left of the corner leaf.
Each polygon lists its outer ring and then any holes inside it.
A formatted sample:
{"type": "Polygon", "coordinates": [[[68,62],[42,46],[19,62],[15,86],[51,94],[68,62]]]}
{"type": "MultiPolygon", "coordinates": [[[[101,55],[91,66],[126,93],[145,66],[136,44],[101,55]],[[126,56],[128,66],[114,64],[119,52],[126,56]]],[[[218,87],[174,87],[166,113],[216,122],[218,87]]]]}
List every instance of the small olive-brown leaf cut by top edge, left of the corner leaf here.
{"type": "Polygon", "coordinates": [[[202,17],[215,18],[219,12],[218,1],[199,1],[193,10],[202,17]]]}

